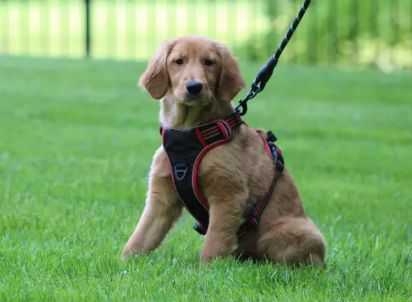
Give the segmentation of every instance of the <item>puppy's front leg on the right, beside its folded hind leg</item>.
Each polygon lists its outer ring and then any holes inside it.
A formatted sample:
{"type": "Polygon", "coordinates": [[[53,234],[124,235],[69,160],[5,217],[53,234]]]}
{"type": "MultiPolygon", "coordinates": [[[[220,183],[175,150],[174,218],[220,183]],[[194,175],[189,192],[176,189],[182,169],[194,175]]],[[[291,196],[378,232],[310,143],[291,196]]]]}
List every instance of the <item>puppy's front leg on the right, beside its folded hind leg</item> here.
{"type": "Polygon", "coordinates": [[[215,257],[226,256],[236,247],[237,232],[242,224],[246,194],[226,194],[209,198],[209,227],[201,253],[201,264],[215,257]]]}

